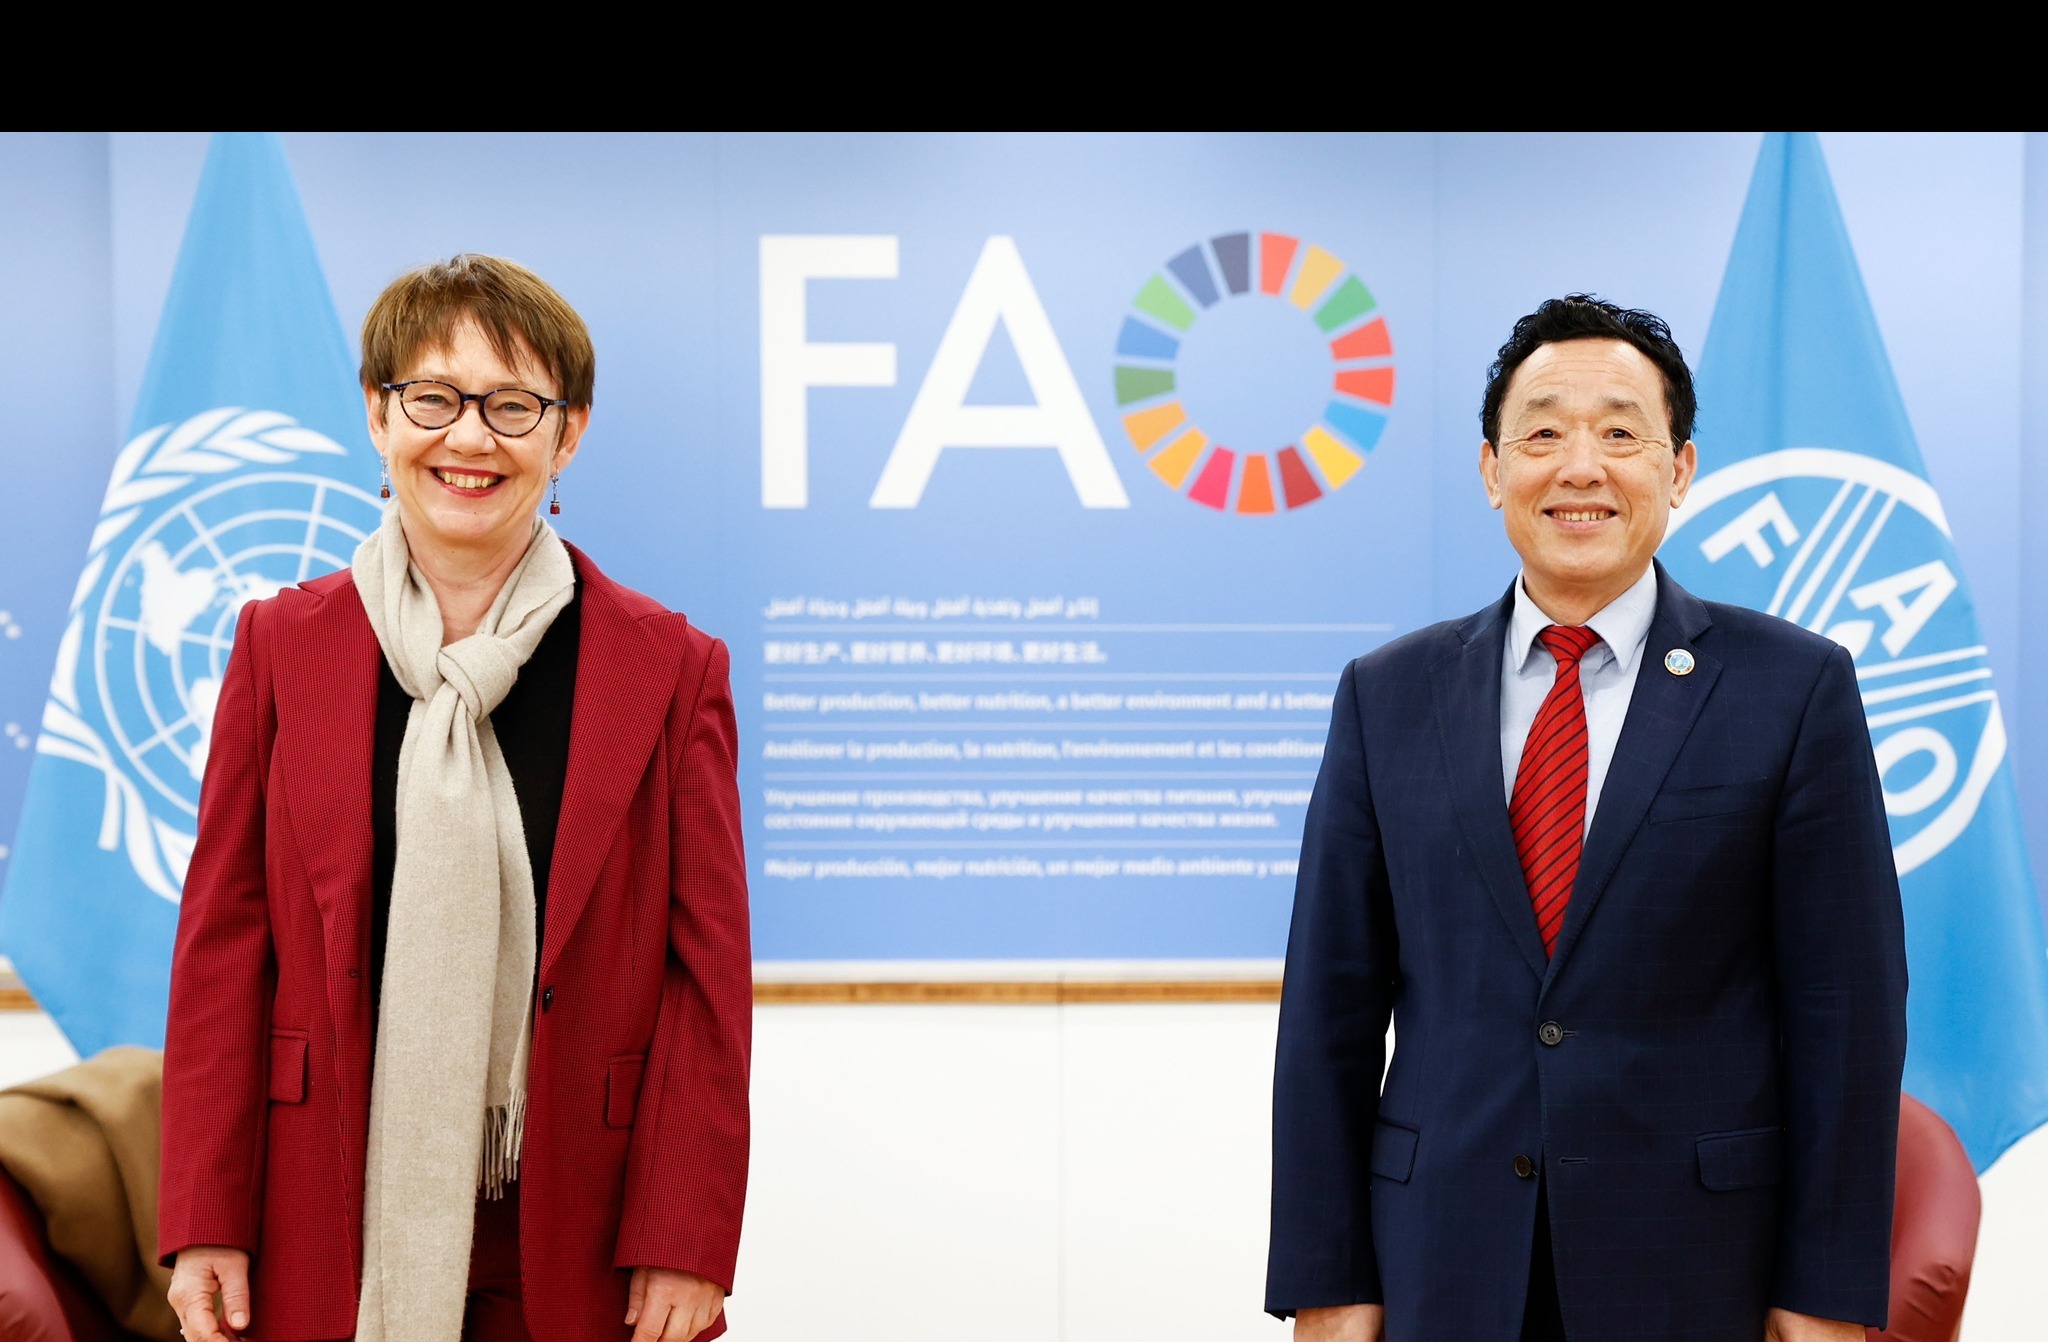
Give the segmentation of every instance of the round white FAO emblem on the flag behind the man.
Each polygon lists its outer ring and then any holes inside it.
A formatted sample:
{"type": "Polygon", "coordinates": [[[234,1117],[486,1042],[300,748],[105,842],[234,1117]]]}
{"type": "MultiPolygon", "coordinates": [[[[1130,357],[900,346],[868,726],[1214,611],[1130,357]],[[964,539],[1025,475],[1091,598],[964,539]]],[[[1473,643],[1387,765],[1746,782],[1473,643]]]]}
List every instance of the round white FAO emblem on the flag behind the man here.
{"type": "Polygon", "coordinates": [[[1694,481],[1663,559],[1694,590],[1855,658],[1898,875],[1970,826],[2005,721],[1931,484],[1860,453],[1763,453],[1694,481]]]}

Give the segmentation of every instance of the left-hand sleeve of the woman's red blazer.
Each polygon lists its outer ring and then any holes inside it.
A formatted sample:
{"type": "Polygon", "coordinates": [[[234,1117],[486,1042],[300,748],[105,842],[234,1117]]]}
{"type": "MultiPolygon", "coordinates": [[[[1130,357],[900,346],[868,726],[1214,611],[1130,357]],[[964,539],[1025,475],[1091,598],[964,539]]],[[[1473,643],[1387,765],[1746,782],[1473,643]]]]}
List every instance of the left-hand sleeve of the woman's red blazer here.
{"type": "Polygon", "coordinates": [[[276,951],[264,883],[264,760],[276,729],[260,602],[242,606],[199,789],[164,1029],[164,1174],[158,1254],[217,1244],[256,1252],[268,1119],[276,951]]]}

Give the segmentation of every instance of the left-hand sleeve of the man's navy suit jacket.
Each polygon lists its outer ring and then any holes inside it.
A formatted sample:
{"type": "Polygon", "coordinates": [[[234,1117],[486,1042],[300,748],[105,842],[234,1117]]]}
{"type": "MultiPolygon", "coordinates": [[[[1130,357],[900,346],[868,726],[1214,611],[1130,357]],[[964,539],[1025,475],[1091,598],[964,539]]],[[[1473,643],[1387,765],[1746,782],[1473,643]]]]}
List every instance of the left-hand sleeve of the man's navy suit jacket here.
{"type": "Polygon", "coordinates": [[[1266,1264],[1274,1315],[1380,1303],[1372,1125],[1399,959],[1354,662],[1309,801],[1286,947],[1266,1264]]]}

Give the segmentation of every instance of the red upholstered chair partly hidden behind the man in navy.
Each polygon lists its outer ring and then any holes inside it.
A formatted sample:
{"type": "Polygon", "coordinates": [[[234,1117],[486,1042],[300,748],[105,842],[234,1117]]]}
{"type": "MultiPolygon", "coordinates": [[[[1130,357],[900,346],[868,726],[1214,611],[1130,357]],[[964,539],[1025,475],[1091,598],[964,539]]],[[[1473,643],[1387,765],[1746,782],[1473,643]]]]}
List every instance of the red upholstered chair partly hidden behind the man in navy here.
{"type": "Polygon", "coordinates": [[[1956,1342],[1985,1203],[1956,1133],[1898,1096],[1898,1199],[1892,1211],[1892,1309],[1870,1342],[1956,1342]]]}

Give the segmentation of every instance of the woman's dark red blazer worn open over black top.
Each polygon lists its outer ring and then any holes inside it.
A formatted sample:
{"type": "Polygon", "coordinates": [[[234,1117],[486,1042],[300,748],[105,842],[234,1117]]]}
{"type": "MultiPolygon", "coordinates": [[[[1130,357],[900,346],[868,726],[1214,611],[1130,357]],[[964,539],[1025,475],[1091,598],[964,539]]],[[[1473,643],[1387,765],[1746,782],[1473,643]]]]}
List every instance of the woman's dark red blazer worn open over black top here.
{"type": "MultiPolygon", "coordinates": [[[[537,1338],[616,1342],[633,1266],[731,1287],[752,955],[725,645],[569,555],[584,627],[520,1258],[537,1338]]],[[[244,606],[201,787],[170,975],[158,1248],[166,1262],[195,1244],[248,1250],[260,1338],[356,1326],[381,660],[348,572],[244,606]]]]}

